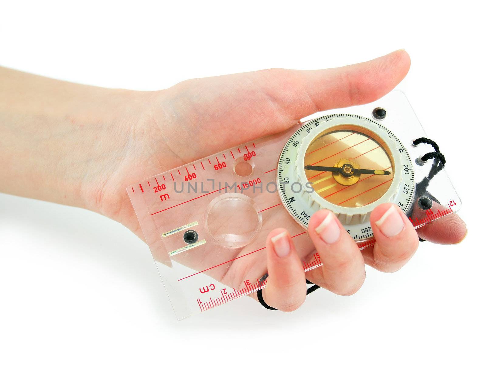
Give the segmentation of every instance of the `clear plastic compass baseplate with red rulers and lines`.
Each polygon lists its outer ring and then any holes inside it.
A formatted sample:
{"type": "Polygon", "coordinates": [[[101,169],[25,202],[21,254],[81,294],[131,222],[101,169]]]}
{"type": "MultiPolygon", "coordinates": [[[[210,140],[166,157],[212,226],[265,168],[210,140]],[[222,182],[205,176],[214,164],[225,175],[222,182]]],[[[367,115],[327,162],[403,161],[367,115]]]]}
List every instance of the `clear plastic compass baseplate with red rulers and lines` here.
{"type": "MultiPolygon", "coordinates": [[[[406,214],[419,228],[459,210],[461,202],[441,163],[416,162],[433,151],[412,141],[427,137],[405,95],[394,91],[368,105],[326,111],[373,120],[391,130],[414,160],[415,189],[406,214]],[[433,207],[423,210],[427,196],[433,207]]],[[[202,313],[265,287],[265,240],[275,228],[292,236],[304,270],[322,266],[307,231],[282,204],[276,171],[284,144],[305,123],[285,132],[243,143],[204,159],[158,174],[127,188],[147,244],[177,319],[202,313]],[[197,235],[197,236],[196,236],[197,235]]],[[[358,243],[370,248],[374,240],[358,243]]]]}

